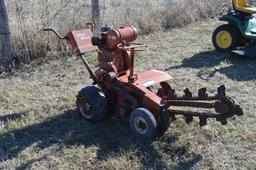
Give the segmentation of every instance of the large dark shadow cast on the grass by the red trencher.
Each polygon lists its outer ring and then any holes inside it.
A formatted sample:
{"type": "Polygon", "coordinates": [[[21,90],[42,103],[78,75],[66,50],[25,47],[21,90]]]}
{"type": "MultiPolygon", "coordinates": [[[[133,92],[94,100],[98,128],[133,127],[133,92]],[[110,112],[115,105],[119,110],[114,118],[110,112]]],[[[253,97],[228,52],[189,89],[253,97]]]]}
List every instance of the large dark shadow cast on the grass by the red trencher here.
{"type": "MultiPolygon", "coordinates": [[[[197,154],[192,155],[191,158],[188,146],[174,147],[172,144],[178,140],[178,135],[164,137],[157,141],[156,146],[160,143],[164,145],[164,149],[159,149],[153,144],[137,141],[129,128],[118,121],[90,124],[82,120],[75,110],[66,111],[39,124],[2,133],[0,139],[0,149],[5,153],[4,157],[2,156],[3,161],[17,158],[24,149],[31,145],[36,147],[37,151],[43,151],[53,145],[58,145],[59,148],[81,145],[97,146],[99,161],[132,151],[139,157],[142,167],[146,169],[152,167],[168,169],[168,163],[164,160],[162,153],[171,155],[173,159],[186,158],[177,165],[177,169],[191,168],[202,159],[197,154]]],[[[24,169],[40,160],[28,160],[17,169],[24,169]]]]}

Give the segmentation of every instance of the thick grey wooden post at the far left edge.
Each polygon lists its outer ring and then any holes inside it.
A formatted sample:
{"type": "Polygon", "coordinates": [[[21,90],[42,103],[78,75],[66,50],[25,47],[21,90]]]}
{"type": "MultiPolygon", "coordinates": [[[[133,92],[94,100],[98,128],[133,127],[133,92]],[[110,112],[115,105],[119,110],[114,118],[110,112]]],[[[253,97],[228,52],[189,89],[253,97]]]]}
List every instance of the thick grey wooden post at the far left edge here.
{"type": "Polygon", "coordinates": [[[8,68],[14,59],[11,33],[4,0],[0,0],[0,72],[1,67],[8,68]]]}

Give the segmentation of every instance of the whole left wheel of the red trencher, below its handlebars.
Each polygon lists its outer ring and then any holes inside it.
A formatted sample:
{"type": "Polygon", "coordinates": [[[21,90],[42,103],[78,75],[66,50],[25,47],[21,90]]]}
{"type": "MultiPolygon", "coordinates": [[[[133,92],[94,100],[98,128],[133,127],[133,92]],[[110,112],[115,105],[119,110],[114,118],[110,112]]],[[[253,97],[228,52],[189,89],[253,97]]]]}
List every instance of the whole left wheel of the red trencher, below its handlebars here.
{"type": "Polygon", "coordinates": [[[77,96],[78,112],[85,120],[97,123],[108,114],[108,104],[104,93],[97,87],[88,86],[82,89],[77,96]]]}

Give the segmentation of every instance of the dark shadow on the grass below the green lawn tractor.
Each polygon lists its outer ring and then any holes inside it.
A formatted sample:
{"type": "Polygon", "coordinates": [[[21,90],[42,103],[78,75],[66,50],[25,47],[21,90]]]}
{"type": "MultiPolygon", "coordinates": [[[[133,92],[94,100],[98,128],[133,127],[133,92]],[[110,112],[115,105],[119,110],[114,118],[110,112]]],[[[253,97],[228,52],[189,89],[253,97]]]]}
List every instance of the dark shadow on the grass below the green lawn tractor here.
{"type": "Polygon", "coordinates": [[[166,70],[184,67],[200,69],[198,76],[203,79],[211,78],[216,73],[224,74],[235,81],[256,79],[256,59],[248,59],[229,53],[219,53],[216,51],[201,52],[191,58],[184,59],[181,65],[172,66],[166,70]],[[222,61],[225,61],[228,66],[218,66],[222,61]]]}

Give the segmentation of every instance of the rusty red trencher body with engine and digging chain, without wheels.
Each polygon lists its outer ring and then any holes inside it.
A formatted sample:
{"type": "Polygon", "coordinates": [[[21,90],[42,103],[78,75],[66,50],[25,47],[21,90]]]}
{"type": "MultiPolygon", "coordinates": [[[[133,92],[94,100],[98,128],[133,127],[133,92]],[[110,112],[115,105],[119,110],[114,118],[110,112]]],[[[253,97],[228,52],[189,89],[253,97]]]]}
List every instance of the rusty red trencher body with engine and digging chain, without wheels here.
{"type": "Polygon", "coordinates": [[[133,43],[138,36],[136,28],[104,27],[100,36],[96,37],[92,35],[92,30],[93,27],[72,31],[65,39],[81,56],[97,47],[99,68],[94,73],[86,58],[82,59],[93,82],[106,93],[113,110],[124,122],[127,122],[131,112],[138,107],[150,110],[158,120],[160,129],[165,130],[169,120],[163,119],[171,118],[174,121],[177,115],[183,115],[187,123],[198,117],[201,126],[207,124],[208,118],[215,118],[226,124],[227,118],[243,115],[240,106],[226,96],[225,86],[220,86],[215,96],[209,96],[206,88],[199,89],[197,96],[193,96],[187,88],[184,95],[178,97],[167,83],[173,79],[168,73],[158,70],[140,73],[134,71],[135,51],[145,47],[143,44],[133,43]],[[181,109],[175,110],[174,106],[181,109]],[[208,109],[210,112],[182,111],[184,108],[208,109]],[[166,116],[165,113],[170,115],[166,116]]]}

